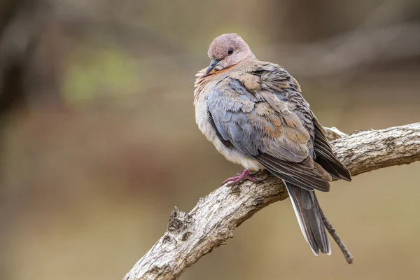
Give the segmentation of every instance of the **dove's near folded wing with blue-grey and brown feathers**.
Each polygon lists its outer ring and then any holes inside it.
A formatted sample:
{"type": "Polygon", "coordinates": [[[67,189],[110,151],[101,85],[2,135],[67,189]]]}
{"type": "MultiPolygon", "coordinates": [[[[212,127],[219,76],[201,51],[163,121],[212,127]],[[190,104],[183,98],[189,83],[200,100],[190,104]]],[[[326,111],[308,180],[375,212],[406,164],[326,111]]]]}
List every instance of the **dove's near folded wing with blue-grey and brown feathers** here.
{"type": "Polygon", "coordinates": [[[329,190],[330,174],[311,157],[311,135],[288,102],[273,94],[273,88],[287,87],[285,80],[267,85],[261,76],[232,73],[211,90],[207,105],[216,135],[295,186],[329,190]]]}

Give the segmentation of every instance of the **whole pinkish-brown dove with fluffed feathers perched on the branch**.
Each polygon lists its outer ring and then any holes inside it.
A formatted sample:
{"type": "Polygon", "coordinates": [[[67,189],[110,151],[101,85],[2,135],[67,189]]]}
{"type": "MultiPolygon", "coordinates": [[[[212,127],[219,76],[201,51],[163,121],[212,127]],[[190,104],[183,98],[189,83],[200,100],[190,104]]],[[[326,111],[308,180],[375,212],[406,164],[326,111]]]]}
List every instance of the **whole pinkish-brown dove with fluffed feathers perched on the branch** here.
{"type": "Polygon", "coordinates": [[[244,167],[223,183],[256,181],[254,172],[281,179],[304,239],[314,255],[330,255],[315,190],[351,181],[325,130],[302,96],[297,80],[283,67],[255,57],[238,34],[222,34],[207,52],[211,62],[196,75],[195,120],[226,160],[244,167]]]}

